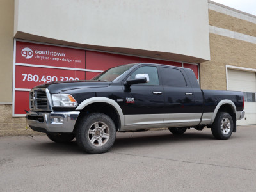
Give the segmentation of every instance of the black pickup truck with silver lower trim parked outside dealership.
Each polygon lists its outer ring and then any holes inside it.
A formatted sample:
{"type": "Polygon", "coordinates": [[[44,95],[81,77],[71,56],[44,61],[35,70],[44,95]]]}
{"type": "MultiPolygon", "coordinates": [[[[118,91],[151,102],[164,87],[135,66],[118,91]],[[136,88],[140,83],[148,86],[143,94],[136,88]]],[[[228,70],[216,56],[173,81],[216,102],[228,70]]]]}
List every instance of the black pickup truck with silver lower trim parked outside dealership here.
{"type": "Polygon", "coordinates": [[[136,63],[110,68],[90,81],[58,81],[30,92],[27,122],[57,143],[76,137],[91,154],[106,152],[116,131],[168,127],[183,134],[211,128],[225,140],[244,117],[242,92],[201,90],[188,68],[136,63]]]}

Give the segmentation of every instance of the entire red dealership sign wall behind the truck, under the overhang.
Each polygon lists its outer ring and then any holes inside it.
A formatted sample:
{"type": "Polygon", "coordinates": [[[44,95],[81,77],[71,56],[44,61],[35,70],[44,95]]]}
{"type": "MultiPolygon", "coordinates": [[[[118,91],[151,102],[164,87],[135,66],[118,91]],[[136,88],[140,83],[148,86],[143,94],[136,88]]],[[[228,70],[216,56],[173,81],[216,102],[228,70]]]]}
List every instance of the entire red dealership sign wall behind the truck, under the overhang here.
{"type": "MultiPolygon", "coordinates": [[[[103,70],[128,63],[159,63],[191,68],[198,78],[198,64],[154,60],[109,52],[14,40],[13,116],[26,116],[31,88],[52,81],[92,79],[103,70]]],[[[130,99],[130,102],[132,100],[130,99]]]]}

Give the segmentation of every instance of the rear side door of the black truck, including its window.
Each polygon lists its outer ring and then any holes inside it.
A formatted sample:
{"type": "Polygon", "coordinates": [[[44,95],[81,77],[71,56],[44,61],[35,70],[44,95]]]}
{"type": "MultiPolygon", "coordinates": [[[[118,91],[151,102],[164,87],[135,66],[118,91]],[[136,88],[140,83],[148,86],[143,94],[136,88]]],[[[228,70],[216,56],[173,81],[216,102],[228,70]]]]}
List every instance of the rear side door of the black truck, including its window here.
{"type": "Polygon", "coordinates": [[[179,127],[198,125],[202,111],[196,111],[195,95],[182,68],[161,67],[164,88],[164,124],[179,127]]]}

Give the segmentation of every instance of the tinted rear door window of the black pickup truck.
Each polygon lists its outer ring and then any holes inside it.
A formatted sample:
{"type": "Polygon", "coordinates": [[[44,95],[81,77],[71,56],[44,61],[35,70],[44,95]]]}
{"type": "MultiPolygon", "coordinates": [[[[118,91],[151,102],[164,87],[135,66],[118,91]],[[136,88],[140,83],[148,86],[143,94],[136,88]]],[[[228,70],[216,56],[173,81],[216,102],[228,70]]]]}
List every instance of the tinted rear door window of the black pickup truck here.
{"type": "Polygon", "coordinates": [[[162,67],[162,79],[165,86],[186,86],[182,72],[175,68],[162,67]]]}

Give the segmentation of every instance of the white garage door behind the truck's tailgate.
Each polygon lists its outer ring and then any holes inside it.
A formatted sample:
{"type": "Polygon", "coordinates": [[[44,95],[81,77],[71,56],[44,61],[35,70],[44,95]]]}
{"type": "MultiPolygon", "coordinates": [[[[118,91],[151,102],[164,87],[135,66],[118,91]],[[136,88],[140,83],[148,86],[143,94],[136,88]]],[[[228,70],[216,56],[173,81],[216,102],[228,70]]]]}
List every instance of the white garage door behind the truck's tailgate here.
{"type": "Polygon", "coordinates": [[[255,72],[228,69],[228,90],[241,91],[244,93],[243,120],[237,121],[237,125],[256,124],[256,76],[255,72]]]}

